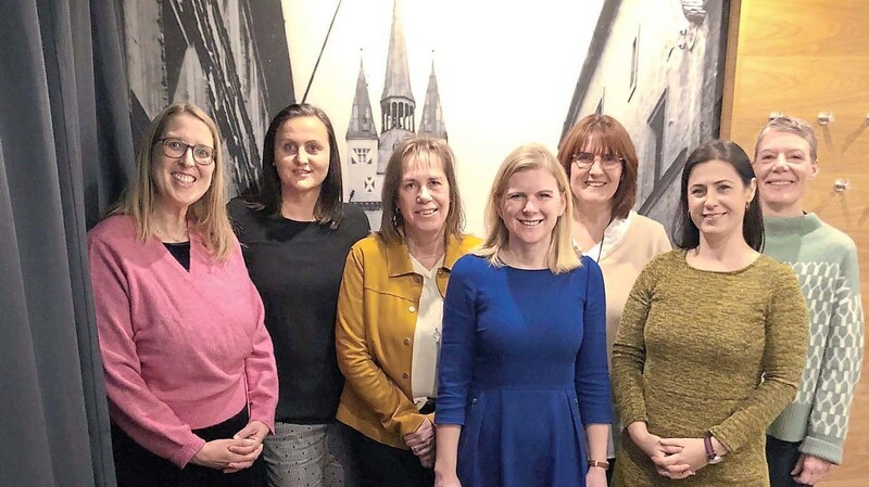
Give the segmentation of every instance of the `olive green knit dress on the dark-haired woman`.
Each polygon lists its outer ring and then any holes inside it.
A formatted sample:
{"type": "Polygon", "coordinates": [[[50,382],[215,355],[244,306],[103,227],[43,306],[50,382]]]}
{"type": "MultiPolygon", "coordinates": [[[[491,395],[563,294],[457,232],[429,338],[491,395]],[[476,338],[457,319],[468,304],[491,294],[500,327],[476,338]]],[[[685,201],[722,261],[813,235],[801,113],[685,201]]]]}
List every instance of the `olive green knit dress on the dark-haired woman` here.
{"type": "Polygon", "coordinates": [[[765,432],[796,394],[807,336],[803,295],[783,264],[761,255],[736,271],[705,271],[685,262],[685,251],[652,260],[613,348],[621,420],[645,421],[662,438],[711,432],[729,453],[671,480],[624,434],[612,485],[768,486],[765,432]]]}

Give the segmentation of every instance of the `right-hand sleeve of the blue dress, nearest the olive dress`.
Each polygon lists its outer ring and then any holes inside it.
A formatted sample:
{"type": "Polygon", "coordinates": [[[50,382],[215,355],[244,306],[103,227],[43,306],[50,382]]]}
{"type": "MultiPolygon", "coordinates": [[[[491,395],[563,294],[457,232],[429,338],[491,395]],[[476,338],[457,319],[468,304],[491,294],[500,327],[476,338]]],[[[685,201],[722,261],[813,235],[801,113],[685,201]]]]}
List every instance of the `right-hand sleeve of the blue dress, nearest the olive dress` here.
{"type": "MultiPolygon", "coordinates": [[[[588,275],[585,307],[582,313],[582,344],[577,354],[574,381],[579,412],[584,424],[613,422],[613,395],[606,363],[606,296],[604,278],[597,264],[583,257],[588,275]]],[[[468,376],[468,379],[470,379],[468,376]]],[[[439,405],[440,406],[440,405],[439,405]]]]}

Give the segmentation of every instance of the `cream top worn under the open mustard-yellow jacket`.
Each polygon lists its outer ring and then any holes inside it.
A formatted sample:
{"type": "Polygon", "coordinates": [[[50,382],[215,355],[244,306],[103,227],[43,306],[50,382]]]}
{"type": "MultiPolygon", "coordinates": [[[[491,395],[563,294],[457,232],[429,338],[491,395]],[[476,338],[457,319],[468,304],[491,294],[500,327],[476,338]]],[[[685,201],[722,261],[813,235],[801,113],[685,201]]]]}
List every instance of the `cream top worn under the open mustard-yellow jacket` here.
{"type": "Polygon", "coordinates": [[[438,395],[438,357],[441,353],[443,297],[434,279],[443,267],[443,257],[430,270],[411,256],[414,272],[423,278],[423,294],[414,329],[414,353],[411,359],[411,390],[414,403],[421,408],[427,397],[438,395]]]}

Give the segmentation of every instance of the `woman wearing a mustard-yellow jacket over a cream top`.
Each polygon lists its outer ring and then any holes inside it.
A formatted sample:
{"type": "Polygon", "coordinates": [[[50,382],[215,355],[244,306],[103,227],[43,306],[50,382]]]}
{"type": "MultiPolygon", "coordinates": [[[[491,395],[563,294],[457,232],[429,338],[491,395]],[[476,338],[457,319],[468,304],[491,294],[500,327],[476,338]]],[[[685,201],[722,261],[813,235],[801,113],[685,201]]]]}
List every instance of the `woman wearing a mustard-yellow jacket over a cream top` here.
{"type": "Polygon", "coordinates": [[[337,418],[363,486],[433,484],[433,411],[443,295],[454,262],[479,240],[462,233],[445,142],[410,137],[387,164],[380,231],[350,251],[336,345],[347,377],[337,418]]]}

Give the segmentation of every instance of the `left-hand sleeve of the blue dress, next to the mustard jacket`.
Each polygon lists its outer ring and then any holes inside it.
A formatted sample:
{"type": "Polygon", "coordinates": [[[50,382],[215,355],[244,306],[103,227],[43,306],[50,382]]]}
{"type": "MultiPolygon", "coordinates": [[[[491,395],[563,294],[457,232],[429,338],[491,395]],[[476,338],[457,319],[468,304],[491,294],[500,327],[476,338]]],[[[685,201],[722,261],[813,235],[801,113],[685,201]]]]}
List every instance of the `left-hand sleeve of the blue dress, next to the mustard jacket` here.
{"type": "Polygon", "coordinates": [[[465,424],[465,406],[474,376],[476,293],[463,257],[453,266],[443,300],[443,343],[438,373],[437,424],[465,424]],[[464,260],[464,261],[463,261],[464,260]]]}

